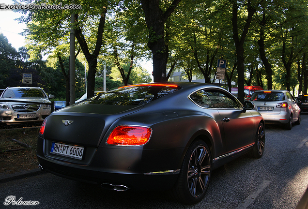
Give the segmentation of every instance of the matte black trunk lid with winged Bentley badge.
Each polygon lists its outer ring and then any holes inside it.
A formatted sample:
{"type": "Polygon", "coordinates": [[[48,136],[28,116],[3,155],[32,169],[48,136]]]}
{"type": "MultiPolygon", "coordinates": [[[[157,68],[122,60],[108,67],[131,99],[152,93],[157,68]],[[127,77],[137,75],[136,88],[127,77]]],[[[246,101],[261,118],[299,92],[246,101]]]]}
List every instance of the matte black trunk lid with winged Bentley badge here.
{"type": "Polygon", "coordinates": [[[142,107],[75,104],[53,112],[47,118],[44,138],[71,145],[98,147],[116,119],[142,107]]]}

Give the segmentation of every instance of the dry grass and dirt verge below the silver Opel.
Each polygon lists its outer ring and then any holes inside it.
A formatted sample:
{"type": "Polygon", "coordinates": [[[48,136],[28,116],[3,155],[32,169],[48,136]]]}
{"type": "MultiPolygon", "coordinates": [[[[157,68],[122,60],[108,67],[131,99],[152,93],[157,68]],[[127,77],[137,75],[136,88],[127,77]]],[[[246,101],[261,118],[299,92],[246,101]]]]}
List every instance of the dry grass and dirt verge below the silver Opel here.
{"type": "Polygon", "coordinates": [[[1,129],[0,130],[0,173],[15,173],[38,167],[36,143],[39,128],[1,129]],[[17,140],[31,147],[24,147],[17,140]],[[18,151],[12,151],[21,149],[18,151]]]}

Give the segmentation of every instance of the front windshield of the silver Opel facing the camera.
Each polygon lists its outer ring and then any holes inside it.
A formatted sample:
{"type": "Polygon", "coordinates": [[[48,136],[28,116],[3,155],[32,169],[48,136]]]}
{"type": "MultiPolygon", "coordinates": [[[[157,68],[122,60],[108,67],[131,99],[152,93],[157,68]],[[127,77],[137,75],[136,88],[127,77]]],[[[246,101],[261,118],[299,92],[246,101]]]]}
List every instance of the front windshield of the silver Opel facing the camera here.
{"type": "Polygon", "coordinates": [[[44,92],[40,89],[20,88],[7,89],[4,91],[2,98],[21,98],[21,97],[46,97],[44,92]]]}

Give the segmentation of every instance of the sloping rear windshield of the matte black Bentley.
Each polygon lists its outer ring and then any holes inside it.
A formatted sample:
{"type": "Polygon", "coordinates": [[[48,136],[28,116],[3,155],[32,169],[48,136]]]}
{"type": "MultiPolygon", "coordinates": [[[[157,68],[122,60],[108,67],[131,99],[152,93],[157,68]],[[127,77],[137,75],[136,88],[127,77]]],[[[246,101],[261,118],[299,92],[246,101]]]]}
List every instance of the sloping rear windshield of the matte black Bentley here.
{"type": "Polygon", "coordinates": [[[98,94],[80,104],[142,105],[179,89],[166,86],[128,86],[98,94]]]}

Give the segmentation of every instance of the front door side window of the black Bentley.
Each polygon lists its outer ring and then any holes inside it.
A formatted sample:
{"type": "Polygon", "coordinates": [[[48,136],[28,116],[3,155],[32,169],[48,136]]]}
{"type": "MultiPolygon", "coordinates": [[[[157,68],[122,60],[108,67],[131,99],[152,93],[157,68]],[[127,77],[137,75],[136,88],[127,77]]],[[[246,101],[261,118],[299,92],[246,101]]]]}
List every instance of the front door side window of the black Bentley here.
{"type": "Polygon", "coordinates": [[[205,91],[208,97],[211,99],[212,103],[214,104],[215,108],[220,109],[239,109],[241,106],[238,102],[231,97],[230,95],[226,94],[220,90],[206,90],[205,91]]]}

